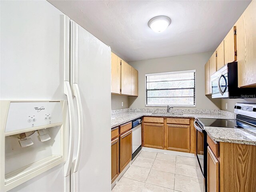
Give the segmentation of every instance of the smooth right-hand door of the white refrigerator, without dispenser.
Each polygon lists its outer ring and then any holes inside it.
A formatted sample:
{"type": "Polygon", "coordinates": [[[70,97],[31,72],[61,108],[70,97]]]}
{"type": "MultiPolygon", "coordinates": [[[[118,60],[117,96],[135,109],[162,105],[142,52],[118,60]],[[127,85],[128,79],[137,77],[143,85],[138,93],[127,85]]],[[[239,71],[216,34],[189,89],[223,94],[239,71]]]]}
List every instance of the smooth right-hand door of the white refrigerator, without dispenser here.
{"type": "Polygon", "coordinates": [[[110,191],[111,50],[81,26],[77,49],[84,126],[78,173],[72,178],[77,191],[110,191]]]}

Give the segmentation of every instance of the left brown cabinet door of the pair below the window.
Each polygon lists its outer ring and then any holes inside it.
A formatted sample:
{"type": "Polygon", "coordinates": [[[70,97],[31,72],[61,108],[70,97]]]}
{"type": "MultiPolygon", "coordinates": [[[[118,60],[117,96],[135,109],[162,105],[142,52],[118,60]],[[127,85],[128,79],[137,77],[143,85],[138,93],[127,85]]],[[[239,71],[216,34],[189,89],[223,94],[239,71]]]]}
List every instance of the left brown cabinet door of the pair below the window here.
{"type": "Polygon", "coordinates": [[[144,147],[164,149],[164,124],[143,124],[144,147]]]}

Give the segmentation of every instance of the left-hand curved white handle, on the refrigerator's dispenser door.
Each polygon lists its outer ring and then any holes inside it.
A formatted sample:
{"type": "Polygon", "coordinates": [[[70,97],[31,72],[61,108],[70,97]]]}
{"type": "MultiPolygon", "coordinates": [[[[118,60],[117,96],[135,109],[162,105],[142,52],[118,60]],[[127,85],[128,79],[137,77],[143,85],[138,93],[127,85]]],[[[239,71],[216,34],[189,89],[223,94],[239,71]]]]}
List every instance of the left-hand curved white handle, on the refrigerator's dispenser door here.
{"type": "Polygon", "coordinates": [[[68,158],[64,164],[64,177],[70,174],[70,168],[72,165],[73,151],[74,151],[74,104],[72,98],[72,92],[68,81],[64,81],[64,94],[68,98],[68,112],[69,112],[69,146],[68,146],[68,158]]]}

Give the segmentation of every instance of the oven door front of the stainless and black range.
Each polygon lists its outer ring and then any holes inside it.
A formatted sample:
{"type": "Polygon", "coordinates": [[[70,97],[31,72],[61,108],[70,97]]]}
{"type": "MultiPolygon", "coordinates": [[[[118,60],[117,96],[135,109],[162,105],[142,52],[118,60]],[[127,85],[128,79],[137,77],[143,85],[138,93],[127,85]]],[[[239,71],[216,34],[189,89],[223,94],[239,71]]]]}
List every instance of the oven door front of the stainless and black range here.
{"type": "Polygon", "coordinates": [[[196,129],[196,149],[195,155],[197,159],[196,170],[198,178],[201,179],[200,187],[202,191],[207,191],[207,133],[204,127],[198,120],[194,121],[194,128],[196,129]]]}

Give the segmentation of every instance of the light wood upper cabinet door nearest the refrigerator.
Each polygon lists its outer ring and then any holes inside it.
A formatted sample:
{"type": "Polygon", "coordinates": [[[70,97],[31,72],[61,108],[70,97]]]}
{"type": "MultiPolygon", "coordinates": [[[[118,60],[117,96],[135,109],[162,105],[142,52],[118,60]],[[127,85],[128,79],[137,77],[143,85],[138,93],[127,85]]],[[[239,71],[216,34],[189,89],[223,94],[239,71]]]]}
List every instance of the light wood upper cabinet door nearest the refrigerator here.
{"type": "Polygon", "coordinates": [[[111,52],[111,93],[120,94],[121,59],[111,52]]]}

